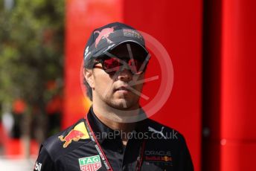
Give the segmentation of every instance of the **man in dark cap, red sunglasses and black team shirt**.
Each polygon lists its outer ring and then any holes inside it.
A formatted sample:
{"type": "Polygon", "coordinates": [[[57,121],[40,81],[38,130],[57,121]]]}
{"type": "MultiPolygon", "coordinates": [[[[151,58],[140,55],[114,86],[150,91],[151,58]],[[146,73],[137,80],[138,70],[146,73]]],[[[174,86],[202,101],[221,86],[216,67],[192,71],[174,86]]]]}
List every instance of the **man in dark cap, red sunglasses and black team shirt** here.
{"type": "Polygon", "coordinates": [[[42,144],[34,170],[193,170],[183,136],[139,105],[149,59],[134,28],[115,22],[94,30],[83,71],[92,107],[42,144]]]}

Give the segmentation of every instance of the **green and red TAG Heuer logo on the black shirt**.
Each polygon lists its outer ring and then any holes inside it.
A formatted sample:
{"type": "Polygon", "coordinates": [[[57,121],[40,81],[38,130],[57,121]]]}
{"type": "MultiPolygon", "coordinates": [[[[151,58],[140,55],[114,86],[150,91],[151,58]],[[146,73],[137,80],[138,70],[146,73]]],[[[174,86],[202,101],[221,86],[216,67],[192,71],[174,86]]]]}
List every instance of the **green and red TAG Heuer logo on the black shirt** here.
{"type": "Polygon", "coordinates": [[[88,158],[79,158],[80,170],[82,171],[96,171],[100,169],[100,155],[94,155],[88,158]]]}

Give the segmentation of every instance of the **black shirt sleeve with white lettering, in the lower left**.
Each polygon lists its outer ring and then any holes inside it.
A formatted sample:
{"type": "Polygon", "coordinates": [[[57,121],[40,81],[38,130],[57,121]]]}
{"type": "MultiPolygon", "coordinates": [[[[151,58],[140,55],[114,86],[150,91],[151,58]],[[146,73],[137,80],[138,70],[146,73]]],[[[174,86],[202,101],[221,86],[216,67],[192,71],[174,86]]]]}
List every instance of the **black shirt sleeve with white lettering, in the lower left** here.
{"type": "Polygon", "coordinates": [[[52,161],[48,151],[42,145],[33,171],[56,171],[54,161],[52,161]]]}

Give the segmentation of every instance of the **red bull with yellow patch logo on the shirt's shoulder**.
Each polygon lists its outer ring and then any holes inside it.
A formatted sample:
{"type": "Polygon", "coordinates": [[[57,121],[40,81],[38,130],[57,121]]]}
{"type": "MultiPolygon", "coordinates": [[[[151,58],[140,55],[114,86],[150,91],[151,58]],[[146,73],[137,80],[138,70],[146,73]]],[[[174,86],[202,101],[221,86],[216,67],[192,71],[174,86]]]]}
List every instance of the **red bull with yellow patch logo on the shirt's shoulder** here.
{"type": "Polygon", "coordinates": [[[66,148],[72,141],[80,141],[80,139],[89,139],[89,134],[87,132],[86,126],[83,122],[81,122],[77,124],[77,126],[74,126],[74,129],[68,132],[68,135],[66,135],[65,137],[63,135],[60,135],[58,138],[60,138],[60,141],[65,142],[63,144],[63,148],[66,148]]]}

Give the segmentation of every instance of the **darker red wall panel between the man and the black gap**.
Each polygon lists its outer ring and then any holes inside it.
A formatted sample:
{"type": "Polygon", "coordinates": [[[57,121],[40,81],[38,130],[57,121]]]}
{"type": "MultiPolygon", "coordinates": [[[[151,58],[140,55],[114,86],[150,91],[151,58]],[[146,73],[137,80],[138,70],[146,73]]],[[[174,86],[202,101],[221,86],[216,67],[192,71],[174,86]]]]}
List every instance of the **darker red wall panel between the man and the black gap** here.
{"type": "Polygon", "coordinates": [[[202,1],[124,1],[124,22],[150,33],[169,52],[174,71],[173,91],[153,119],[185,135],[199,170],[202,1]]]}

